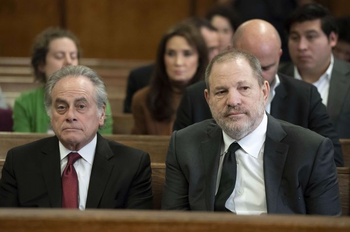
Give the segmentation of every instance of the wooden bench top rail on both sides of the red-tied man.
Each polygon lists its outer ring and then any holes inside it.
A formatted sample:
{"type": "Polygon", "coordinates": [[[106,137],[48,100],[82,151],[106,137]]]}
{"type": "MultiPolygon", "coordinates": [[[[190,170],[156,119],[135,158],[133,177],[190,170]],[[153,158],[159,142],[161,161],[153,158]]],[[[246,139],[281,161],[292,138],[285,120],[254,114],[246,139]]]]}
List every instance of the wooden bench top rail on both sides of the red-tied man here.
{"type": "MultiPolygon", "coordinates": [[[[0,132],[0,159],[5,159],[7,151],[11,148],[49,136],[52,135],[46,133],[0,132]]],[[[104,135],[104,137],[148,152],[151,157],[151,162],[154,163],[165,162],[170,140],[170,136],[167,135],[111,134],[104,135]]]]}

